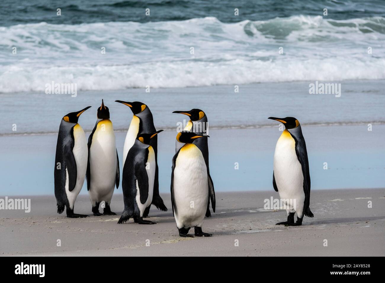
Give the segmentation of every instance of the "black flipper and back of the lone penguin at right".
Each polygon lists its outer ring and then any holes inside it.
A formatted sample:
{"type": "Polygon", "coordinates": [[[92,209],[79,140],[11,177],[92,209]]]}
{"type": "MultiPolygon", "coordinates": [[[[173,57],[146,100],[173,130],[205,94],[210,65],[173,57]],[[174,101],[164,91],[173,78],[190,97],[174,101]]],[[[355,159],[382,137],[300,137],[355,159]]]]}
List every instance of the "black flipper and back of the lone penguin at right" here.
{"type": "Polygon", "coordinates": [[[303,137],[294,137],[295,139],[295,152],[297,154],[298,161],[301,163],[302,175],[303,175],[303,192],[305,193],[305,205],[303,207],[303,213],[307,217],[314,217],[310,211],[310,172],[309,172],[309,160],[308,152],[306,150],[306,143],[303,137]]]}

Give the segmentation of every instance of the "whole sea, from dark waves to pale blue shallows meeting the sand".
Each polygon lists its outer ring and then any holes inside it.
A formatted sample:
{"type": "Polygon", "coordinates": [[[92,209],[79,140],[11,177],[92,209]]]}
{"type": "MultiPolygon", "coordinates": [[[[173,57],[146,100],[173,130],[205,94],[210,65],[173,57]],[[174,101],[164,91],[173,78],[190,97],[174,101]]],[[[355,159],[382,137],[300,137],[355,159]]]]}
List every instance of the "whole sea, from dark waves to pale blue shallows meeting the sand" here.
{"type": "Polygon", "coordinates": [[[269,116],[301,122],[312,189],[383,187],[385,5],[0,2],[0,195],[52,194],[60,120],[92,106],[79,119],[88,137],[101,99],[121,160],[132,113],[114,100],[146,103],[156,128],[168,130],[159,137],[162,192],[169,191],[177,122],[186,118],[171,112],[192,108],[208,115],[217,191],[272,189],[280,132],[269,116]],[[52,81],[76,84],[77,96],[46,94],[52,81]],[[341,96],[309,94],[315,81],[341,84],[341,96]]]}

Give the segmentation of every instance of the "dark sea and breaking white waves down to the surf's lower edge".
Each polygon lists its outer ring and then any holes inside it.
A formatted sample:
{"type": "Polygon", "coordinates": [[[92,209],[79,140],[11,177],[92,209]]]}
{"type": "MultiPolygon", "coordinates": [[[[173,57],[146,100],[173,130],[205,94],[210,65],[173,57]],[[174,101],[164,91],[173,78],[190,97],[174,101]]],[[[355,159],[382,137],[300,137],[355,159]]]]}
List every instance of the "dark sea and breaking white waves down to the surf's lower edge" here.
{"type": "Polygon", "coordinates": [[[2,1],[0,93],[385,79],[382,4],[2,1]]]}

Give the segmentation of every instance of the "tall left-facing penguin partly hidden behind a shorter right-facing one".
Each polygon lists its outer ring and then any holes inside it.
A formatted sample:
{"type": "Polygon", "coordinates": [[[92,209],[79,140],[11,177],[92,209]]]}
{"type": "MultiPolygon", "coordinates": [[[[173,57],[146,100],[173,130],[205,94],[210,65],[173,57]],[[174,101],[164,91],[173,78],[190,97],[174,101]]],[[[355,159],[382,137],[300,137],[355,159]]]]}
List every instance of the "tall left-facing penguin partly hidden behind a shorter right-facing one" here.
{"type": "MultiPolygon", "coordinates": [[[[126,140],[124,141],[124,147],[123,147],[123,168],[124,164],[126,163],[126,158],[129,150],[134,145],[137,137],[140,134],[150,134],[153,132],[156,132],[155,126],[154,126],[154,119],[152,117],[152,113],[149,109],[149,107],[139,101],[134,102],[127,102],[122,100],[115,100],[115,102],[122,103],[124,105],[127,105],[130,107],[132,113],[134,116],[132,117],[130,127],[127,131],[126,140]]],[[[167,211],[166,206],[163,203],[163,199],[159,195],[159,178],[158,178],[158,139],[157,136],[154,136],[150,140],[150,146],[152,149],[154,149],[155,152],[155,181],[154,181],[154,195],[152,196],[152,204],[156,206],[157,209],[160,209],[162,211],[167,211]]],[[[143,217],[146,218],[149,214],[150,206],[147,207],[146,211],[143,214],[143,217]]]]}

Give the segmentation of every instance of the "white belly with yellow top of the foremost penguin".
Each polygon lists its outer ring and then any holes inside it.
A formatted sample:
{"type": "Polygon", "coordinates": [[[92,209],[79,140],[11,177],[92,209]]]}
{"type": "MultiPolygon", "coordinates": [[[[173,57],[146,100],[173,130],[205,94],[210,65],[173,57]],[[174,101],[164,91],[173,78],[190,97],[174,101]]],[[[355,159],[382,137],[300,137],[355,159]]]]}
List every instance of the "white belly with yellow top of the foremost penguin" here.
{"type": "Polygon", "coordinates": [[[202,152],[194,144],[186,144],[179,151],[173,194],[177,227],[202,227],[208,203],[208,176],[202,152]]]}

